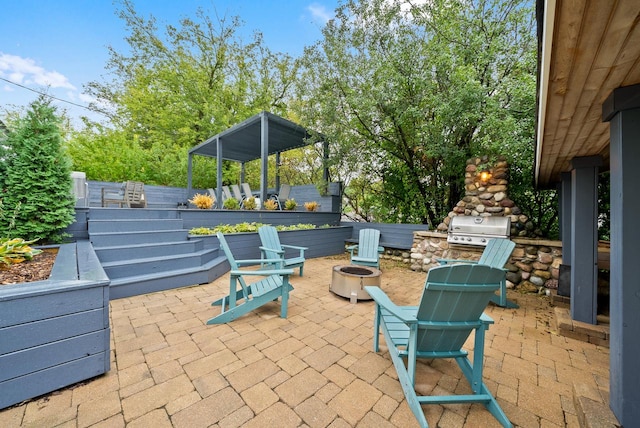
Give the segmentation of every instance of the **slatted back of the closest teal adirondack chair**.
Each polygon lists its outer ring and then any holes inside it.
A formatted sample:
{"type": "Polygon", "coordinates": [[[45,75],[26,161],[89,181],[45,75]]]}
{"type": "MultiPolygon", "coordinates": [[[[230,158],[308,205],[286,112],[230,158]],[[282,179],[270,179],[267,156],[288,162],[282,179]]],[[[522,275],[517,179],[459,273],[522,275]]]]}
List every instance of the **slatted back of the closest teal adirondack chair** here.
{"type": "Polygon", "coordinates": [[[501,269],[478,264],[432,268],[416,318],[435,324],[418,327],[418,351],[459,351],[504,275],[501,269]]]}

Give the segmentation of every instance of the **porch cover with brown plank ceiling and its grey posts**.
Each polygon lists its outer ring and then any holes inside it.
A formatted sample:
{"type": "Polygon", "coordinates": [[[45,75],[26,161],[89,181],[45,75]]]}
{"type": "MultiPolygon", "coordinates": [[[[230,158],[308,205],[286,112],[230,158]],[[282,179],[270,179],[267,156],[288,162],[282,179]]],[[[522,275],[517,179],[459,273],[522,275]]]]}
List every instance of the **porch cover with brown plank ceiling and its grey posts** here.
{"type": "Polygon", "coordinates": [[[610,171],[610,406],[640,420],[640,2],[537,0],[535,179],[560,190],[571,316],[596,323],[599,171],[610,171]]]}

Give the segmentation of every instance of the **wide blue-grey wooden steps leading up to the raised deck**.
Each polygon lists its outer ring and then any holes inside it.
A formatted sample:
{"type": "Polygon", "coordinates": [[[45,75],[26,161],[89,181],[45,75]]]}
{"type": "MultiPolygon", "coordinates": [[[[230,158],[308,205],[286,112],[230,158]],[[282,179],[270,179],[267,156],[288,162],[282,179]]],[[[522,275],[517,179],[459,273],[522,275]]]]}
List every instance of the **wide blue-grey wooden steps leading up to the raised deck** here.
{"type": "MultiPolygon", "coordinates": [[[[109,211],[109,210],[106,210],[109,211]]],[[[189,239],[182,220],[164,212],[130,210],[109,219],[105,210],[87,221],[89,240],[111,280],[111,299],[213,281],[229,270],[218,248],[189,239]]]]}

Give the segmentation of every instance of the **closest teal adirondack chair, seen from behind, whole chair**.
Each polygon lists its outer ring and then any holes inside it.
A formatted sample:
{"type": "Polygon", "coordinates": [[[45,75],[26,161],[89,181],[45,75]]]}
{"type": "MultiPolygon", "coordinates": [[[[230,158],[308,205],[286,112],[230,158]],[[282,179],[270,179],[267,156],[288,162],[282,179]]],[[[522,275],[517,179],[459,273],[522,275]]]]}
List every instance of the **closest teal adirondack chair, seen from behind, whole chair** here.
{"type": "Polygon", "coordinates": [[[376,304],[373,349],[379,350],[382,329],[402,390],[420,426],[428,427],[422,404],[475,402],[484,404],[502,426],[512,426],[482,381],[484,336],[493,323],[483,311],[504,276],[502,269],[485,265],[435,267],[427,274],[418,306],[397,306],[380,288],[365,287],[376,304]],[[474,330],[472,364],[462,346],[474,330]],[[415,390],[418,358],[455,358],[472,393],[418,396],[415,390]]]}

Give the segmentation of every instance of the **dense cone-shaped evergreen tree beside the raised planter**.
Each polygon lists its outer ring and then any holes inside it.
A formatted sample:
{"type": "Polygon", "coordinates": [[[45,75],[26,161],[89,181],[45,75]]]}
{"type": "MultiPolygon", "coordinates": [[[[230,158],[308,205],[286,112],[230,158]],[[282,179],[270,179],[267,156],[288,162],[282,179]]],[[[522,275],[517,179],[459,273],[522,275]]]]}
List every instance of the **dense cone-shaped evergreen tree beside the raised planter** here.
{"type": "Polygon", "coordinates": [[[0,199],[4,212],[15,216],[0,218],[0,236],[60,240],[61,231],[74,221],[75,199],[61,118],[45,96],[30,104],[3,144],[0,199]]]}

